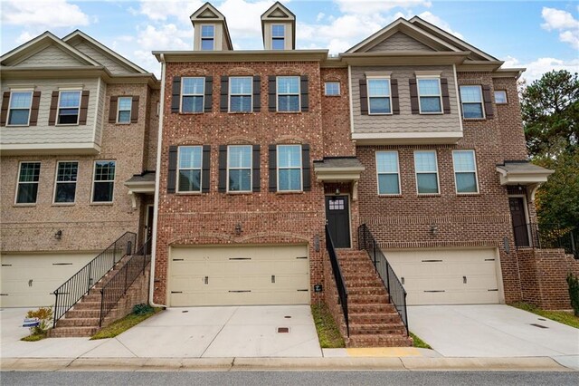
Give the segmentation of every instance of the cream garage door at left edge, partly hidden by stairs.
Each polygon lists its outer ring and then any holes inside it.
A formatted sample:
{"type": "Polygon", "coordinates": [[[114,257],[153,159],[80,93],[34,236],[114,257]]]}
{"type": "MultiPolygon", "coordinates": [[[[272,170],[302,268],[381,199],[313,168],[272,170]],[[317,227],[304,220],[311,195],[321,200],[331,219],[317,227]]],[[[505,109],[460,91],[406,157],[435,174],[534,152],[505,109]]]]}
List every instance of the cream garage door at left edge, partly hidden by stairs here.
{"type": "Polygon", "coordinates": [[[0,306],[54,304],[52,291],[76,274],[98,252],[82,254],[8,254],[0,256],[0,306]]]}

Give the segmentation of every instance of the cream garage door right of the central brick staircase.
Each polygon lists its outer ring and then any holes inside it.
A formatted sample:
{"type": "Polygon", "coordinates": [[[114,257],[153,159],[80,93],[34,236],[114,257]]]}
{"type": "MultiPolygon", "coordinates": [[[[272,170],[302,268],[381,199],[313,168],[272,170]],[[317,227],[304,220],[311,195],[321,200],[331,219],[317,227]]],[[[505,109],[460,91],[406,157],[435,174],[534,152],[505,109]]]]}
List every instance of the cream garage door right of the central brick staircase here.
{"type": "Polygon", "coordinates": [[[384,250],[408,304],[497,304],[496,249],[384,250]]]}

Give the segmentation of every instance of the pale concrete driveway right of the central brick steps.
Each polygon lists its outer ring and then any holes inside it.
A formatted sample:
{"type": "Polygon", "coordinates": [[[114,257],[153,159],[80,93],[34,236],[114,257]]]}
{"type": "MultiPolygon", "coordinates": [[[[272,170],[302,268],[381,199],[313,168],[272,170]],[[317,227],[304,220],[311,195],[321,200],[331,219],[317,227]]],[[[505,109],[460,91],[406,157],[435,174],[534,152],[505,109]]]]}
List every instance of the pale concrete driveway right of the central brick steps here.
{"type": "Polygon", "coordinates": [[[505,304],[410,306],[408,322],[445,357],[548,356],[579,366],[579,330],[505,304]]]}

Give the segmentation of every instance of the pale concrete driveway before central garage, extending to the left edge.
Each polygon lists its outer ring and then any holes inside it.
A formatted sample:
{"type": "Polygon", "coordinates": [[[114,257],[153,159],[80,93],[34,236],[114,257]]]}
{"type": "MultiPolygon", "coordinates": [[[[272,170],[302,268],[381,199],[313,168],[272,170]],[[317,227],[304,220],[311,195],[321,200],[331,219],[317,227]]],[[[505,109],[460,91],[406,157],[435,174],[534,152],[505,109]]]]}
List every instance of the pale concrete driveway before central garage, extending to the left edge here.
{"type": "Polygon", "coordinates": [[[169,308],[116,338],[49,338],[35,343],[19,341],[27,334],[27,329],[16,327],[22,325],[22,312],[0,312],[3,358],[322,356],[308,305],[169,308]]]}

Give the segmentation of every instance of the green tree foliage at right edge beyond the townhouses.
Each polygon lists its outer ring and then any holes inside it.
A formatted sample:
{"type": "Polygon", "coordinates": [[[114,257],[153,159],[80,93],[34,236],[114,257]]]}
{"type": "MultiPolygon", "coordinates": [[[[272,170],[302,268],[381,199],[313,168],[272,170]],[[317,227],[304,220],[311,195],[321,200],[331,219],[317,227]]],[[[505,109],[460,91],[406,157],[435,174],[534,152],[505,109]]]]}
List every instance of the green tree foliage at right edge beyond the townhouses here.
{"type": "Polygon", "coordinates": [[[555,169],[536,194],[539,222],[579,229],[579,79],[546,72],[523,89],[527,149],[536,165],[555,169]]]}

